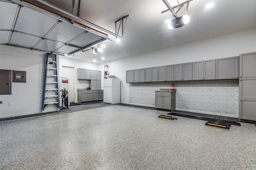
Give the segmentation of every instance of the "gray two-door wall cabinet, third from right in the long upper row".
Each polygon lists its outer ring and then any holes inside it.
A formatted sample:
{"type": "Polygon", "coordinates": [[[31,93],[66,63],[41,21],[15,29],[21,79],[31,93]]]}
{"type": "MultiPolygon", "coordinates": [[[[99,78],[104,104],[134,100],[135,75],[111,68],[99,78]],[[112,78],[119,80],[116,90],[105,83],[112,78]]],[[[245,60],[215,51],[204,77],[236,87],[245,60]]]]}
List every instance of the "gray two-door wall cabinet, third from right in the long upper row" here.
{"type": "Polygon", "coordinates": [[[174,81],[192,80],[192,63],[174,64],[174,81]]]}

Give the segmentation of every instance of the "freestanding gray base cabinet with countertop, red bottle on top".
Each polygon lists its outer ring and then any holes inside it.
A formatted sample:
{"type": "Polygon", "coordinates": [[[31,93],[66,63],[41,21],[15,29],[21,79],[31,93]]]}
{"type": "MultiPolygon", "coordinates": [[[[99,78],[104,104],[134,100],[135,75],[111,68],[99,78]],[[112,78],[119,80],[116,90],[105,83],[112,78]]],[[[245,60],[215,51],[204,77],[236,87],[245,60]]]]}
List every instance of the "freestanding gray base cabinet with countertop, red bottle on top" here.
{"type": "Polygon", "coordinates": [[[155,92],[155,107],[176,110],[176,92],[155,92]]]}

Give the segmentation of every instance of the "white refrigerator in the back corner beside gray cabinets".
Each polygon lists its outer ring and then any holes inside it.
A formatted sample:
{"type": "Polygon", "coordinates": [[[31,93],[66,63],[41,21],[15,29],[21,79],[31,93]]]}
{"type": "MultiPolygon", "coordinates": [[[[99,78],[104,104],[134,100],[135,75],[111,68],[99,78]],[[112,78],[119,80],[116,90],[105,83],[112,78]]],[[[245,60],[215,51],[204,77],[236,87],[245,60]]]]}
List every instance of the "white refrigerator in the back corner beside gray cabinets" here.
{"type": "Polygon", "coordinates": [[[120,79],[105,78],[103,85],[103,102],[110,104],[120,103],[120,79]]]}

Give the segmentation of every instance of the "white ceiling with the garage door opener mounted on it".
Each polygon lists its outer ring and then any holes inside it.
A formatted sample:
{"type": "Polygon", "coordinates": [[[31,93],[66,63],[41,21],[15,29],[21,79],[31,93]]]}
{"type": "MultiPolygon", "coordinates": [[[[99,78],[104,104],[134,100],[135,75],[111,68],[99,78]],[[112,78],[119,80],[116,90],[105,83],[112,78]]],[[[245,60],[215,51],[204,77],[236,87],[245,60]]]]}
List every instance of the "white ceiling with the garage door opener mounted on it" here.
{"type": "MultiPolygon", "coordinates": [[[[35,0],[30,1],[40,4],[35,0]]],[[[72,0],[47,1],[72,13],[72,0]]],[[[180,3],[184,1],[179,0],[180,3]]],[[[178,5],[177,0],[168,2],[171,6],[178,5]]],[[[76,7],[77,3],[78,0],[76,7]]],[[[124,31],[125,40],[119,43],[105,40],[103,45],[106,47],[102,54],[94,54],[92,50],[80,51],[74,54],[75,59],[105,63],[256,27],[256,0],[193,0],[188,7],[190,22],[176,29],[167,28],[165,21],[172,20],[172,13],[161,14],[166,9],[162,0],[81,0],[80,17],[113,33],[114,21],[126,15],[129,17],[124,31]],[[214,6],[206,9],[210,2],[214,6]],[[105,59],[102,60],[102,57],[105,59]]],[[[183,9],[186,9],[186,5],[183,9]]],[[[181,15],[180,11],[178,16],[181,15]]]]}

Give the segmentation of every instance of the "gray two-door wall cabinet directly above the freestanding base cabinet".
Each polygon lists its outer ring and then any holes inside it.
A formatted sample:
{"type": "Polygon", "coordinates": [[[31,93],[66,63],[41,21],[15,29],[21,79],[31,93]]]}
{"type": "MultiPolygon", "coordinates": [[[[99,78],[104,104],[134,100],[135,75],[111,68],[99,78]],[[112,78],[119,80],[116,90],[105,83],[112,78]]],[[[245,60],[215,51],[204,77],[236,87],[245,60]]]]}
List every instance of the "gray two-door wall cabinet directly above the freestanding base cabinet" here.
{"type": "Polygon", "coordinates": [[[173,81],[173,65],[158,67],[158,82],[173,81]]]}

